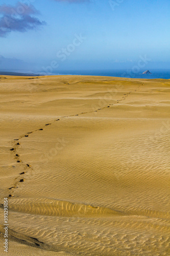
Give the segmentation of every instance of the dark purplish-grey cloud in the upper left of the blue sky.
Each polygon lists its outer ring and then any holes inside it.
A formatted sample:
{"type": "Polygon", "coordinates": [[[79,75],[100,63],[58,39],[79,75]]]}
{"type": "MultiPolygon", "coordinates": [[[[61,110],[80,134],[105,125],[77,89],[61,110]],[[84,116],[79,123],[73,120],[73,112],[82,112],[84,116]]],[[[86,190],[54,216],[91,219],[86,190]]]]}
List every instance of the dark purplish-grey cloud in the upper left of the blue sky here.
{"type": "Polygon", "coordinates": [[[0,36],[5,37],[12,31],[26,32],[45,25],[38,15],[39,11],[33,5],[18,2],[15,6],[0,5],[0,36]]]}

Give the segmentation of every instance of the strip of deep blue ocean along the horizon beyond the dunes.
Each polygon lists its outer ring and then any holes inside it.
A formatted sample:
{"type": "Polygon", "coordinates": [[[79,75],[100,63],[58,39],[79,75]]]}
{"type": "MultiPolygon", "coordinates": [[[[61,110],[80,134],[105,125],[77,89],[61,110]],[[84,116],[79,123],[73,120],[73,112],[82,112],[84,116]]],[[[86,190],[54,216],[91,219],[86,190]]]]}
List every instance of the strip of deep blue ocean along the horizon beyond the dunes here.
{"type": "Polygon", "coordinates": [[[113,76],[144,79],[170,79],[170,69],[150,69],[152,74],[142,74],[145,70],[134,73],[131,69],[126,70],[66,70],[54,71],[51,75],[90,75],[90,76],[113,76]]]}

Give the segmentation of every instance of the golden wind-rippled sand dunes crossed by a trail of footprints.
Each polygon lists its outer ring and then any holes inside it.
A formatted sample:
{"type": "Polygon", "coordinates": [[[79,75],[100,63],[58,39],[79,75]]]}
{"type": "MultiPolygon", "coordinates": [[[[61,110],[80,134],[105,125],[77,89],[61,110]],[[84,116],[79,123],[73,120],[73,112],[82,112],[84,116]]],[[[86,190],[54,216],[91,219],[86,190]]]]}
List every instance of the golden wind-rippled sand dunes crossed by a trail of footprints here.
{"type": "Polygon", "coordinates": [[[170,81],[0,76],[1,255],[170,255],[170,81]],[[6,77],[6,78],[5,78],[6,77]]]}

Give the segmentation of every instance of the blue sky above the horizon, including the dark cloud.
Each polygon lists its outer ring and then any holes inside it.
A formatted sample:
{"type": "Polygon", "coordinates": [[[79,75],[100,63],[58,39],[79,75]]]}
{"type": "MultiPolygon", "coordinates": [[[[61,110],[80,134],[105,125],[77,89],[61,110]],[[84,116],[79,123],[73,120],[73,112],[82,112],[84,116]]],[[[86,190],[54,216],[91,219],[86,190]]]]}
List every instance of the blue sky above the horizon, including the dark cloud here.
{"type": "Polygon", "coordinates": [[[170,69],[169,17],[169,0],[0,0],[0,70],[170,69]]]}

